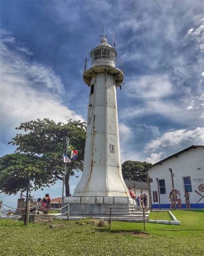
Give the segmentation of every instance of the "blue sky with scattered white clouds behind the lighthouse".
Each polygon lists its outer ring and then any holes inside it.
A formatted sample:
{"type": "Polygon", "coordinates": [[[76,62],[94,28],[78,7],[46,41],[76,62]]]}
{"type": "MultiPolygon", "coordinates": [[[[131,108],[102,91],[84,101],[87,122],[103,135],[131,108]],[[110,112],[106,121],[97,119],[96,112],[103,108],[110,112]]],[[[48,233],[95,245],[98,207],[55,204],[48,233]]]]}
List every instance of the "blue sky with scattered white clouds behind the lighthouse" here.
{"type": "MultiPolygon", "coordinates": [[[[22,122],[87,120],[84,61],[103,28],[110,45],[115,30],[124,63],[122,161],[156,163],[204,144],[202,0],[1,0],[0,16],[1,156],[15,151],[8,142],[22,122]]],[[[78,181],[71,178],[72,193],[78,181]]],[[[61,190],[59,181],[46,192],[61,190]]],[[[9,205],[18,197],[0,194],[9,205]]]]}

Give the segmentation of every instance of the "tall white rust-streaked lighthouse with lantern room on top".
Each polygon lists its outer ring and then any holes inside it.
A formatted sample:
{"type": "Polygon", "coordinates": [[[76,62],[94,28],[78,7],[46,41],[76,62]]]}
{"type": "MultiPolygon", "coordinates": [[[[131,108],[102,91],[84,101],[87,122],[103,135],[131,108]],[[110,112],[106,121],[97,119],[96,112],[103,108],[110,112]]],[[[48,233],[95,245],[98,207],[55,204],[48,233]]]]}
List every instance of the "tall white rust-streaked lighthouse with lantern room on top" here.
{"type": "Polygon", "coordinates": [[[74,195],[65,198],[71,214],[105,214],[106,206],[133,204],[121,170],[116,90],[124,80],[117,52],[102,38],[86,59],[89,86],[83,174],[74,195]]]}

